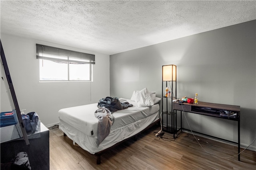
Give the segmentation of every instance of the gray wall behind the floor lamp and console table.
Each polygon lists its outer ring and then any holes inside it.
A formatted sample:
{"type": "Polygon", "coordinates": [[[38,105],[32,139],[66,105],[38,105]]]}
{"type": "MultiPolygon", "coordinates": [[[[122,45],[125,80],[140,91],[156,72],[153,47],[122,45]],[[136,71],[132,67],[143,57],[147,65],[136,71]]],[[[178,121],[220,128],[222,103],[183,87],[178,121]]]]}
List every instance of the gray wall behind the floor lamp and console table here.
{"type": "MultiPolygon", "coordinates": [[[[177,98],[241,106],[241,145],[256,137],[256,20],[110,55],[110,95],[162,96],[162,65],[177,65],[177,98]]],[[[166,35],[168,36],[168,35],[166,35]]],[[[135,40],[136,41],[136,40],[135,40]]],[[[237,141],[237,122],[186,114],[192,130],[237,141]]],[[[188,127],[186,119],[183,126],[188,127]]],[[[250,149],[256,150],[256,143],[250,149]]]]}

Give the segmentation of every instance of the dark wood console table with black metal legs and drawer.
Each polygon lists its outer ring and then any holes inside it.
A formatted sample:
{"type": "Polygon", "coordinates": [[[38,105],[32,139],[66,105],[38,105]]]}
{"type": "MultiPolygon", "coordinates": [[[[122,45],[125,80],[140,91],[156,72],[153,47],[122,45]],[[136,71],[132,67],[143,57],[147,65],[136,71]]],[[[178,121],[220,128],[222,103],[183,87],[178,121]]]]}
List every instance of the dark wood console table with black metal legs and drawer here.
{"type": "MultiPolygon", "coordinates": [[[[189,103],[173,102],[173,109],[174,111],[175,110],[180,111],[180,129],[178,129],[178,131],[182,131],[182,114],[181,114],[182,111],[211,116],[211,117],[217,117],[221,119],[238,121],[238,142],[228,141],[226,139],[222,139],[222,140],[232,142],[238,145],[238,160],[240,161],[240,154],[239,154],[240,153],[240,106],[214,104],[214,103],[206,103],[206,102],[198,102],[197,105],[189,104],[189,103]],[[225,110],[225,111],[230,111],[231,113],[236,113],[236,117],[220,116],[220,113],[216,112],[216,110],[225,110]]],[[[203,133],[200,133],[200,134],[203,134],[203,133]]],[[[203,135],[206,135],[206,134],[203,134],[203,135]]],[[[213,137],[213,136],[210,136],[210,137],[213,137]]],[[[215,137],[215,138],[218,138],[218,137],[215,137]]],[[[221,139],[221,138],[218,138],[218,139],[221,139]]]]}

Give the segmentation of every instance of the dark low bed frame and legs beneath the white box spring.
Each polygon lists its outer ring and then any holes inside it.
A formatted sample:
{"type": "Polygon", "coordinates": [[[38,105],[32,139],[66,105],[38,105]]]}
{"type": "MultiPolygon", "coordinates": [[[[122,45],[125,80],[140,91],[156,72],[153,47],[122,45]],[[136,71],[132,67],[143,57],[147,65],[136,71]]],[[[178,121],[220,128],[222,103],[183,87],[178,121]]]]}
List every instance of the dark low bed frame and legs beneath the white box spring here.
{"type": "MultiPolygon", "coordinates": [[[[148,130],[150,127],[156,125],[157,123],[160,124],[160,119],[157,119],[156,121],[154,121],[153,123],[151,123],[150,125],[148,125],[148,127],[146,127],[145,129],[143,129],[142,131],[140,131],[140,132],[137,133],[136,135],[133,135],[133,136],[127,138],[127,139],[124,139],[123,141],[120,141],[120,142],[116,143],[115,145],[113,145],[113,146],[111,146],[111,147],[109,147],[109,148],[107,148],[107,149],[104,149],[104,150],[101,150],[101,151],[99,151],[99,152],[96,152],[96,153],[95,153],[95,155],[97,156],[96,163],[97,163],[98,165],[101,163],[100,156],[101,156],[102,154],[104,154],[105,152],[107,152],[108,150],[111,150],[112,148],[114,148],[114,147],[116,147],[116,146],[122,144],[123,142],[125,142],[125,141],[127,141],[127,140],[129,140],[129,139],[132,139],[132,138],[134,139],[134,141],[137,141],[137,135],[138,135],[138,134],[140,134],[140,133],[142,133],[142,132],[148,130]]],[[[67,136],[67,135],[64,133],[64,136],[67,136]]]]}

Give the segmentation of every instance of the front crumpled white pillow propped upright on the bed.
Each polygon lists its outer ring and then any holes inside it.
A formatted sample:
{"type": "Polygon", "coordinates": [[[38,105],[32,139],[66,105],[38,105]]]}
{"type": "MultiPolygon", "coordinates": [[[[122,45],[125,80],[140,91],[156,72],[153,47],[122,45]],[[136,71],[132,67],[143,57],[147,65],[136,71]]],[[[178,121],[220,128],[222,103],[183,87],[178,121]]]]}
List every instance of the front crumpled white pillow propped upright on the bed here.
{"type": "Polygon", "coordinates": [[[136,92],[135,102],[137,102],[138,106],[141,106],[141,107],[151,107],[154,105],[154,102],[147,88],[144,88],[139,92],[136,92]]]}

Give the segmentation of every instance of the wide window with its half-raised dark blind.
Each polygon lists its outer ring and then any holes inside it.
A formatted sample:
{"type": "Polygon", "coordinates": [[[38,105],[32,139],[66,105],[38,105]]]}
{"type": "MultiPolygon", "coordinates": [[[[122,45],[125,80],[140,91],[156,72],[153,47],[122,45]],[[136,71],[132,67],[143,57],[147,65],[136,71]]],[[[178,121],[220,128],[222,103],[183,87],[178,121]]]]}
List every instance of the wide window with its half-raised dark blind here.
{"type": "Polygon", "coordinates": [[[36,44],[40,81],[92,81],[95,55],[36,44]]]}

